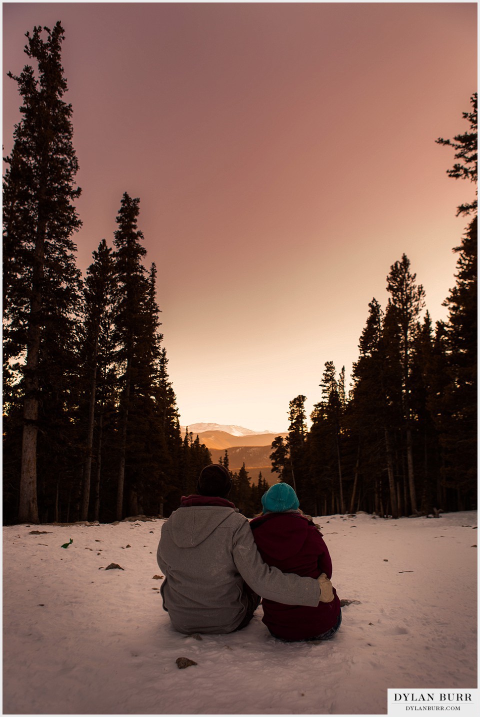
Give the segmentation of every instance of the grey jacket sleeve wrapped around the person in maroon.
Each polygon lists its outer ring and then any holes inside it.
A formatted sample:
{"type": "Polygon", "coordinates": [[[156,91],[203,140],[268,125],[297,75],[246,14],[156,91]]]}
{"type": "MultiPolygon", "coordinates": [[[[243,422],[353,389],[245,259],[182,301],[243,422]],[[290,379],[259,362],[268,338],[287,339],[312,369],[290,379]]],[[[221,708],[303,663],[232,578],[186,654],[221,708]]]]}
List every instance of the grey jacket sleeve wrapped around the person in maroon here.
{"type": "Polygon", "coordinates": [[[238,572],[257,594],[287,605],[319,604],[320,586],[316,579],[282,573],[263,562],[247,520],[239,523],[233,533],[232,549],[238,572]]]}

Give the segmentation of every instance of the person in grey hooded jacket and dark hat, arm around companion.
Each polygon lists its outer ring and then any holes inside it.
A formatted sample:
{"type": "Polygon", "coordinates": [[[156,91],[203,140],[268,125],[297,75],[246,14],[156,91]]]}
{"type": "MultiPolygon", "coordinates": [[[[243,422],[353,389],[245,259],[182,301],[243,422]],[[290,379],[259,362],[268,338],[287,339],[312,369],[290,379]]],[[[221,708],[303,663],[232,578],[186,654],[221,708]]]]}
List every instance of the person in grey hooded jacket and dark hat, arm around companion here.
{"type": "Polygon", "coordinates": [[[198,495],[182,497],[162,526],[156,554],[165,576],[161,594],[179,632],[240,630],[252,619],[258,595],[311,607],[334,598],[326,576],[283,574],[263,562],[248,519],[227,500],[231,487],[225,466],[205,467],[198,495]]]}

